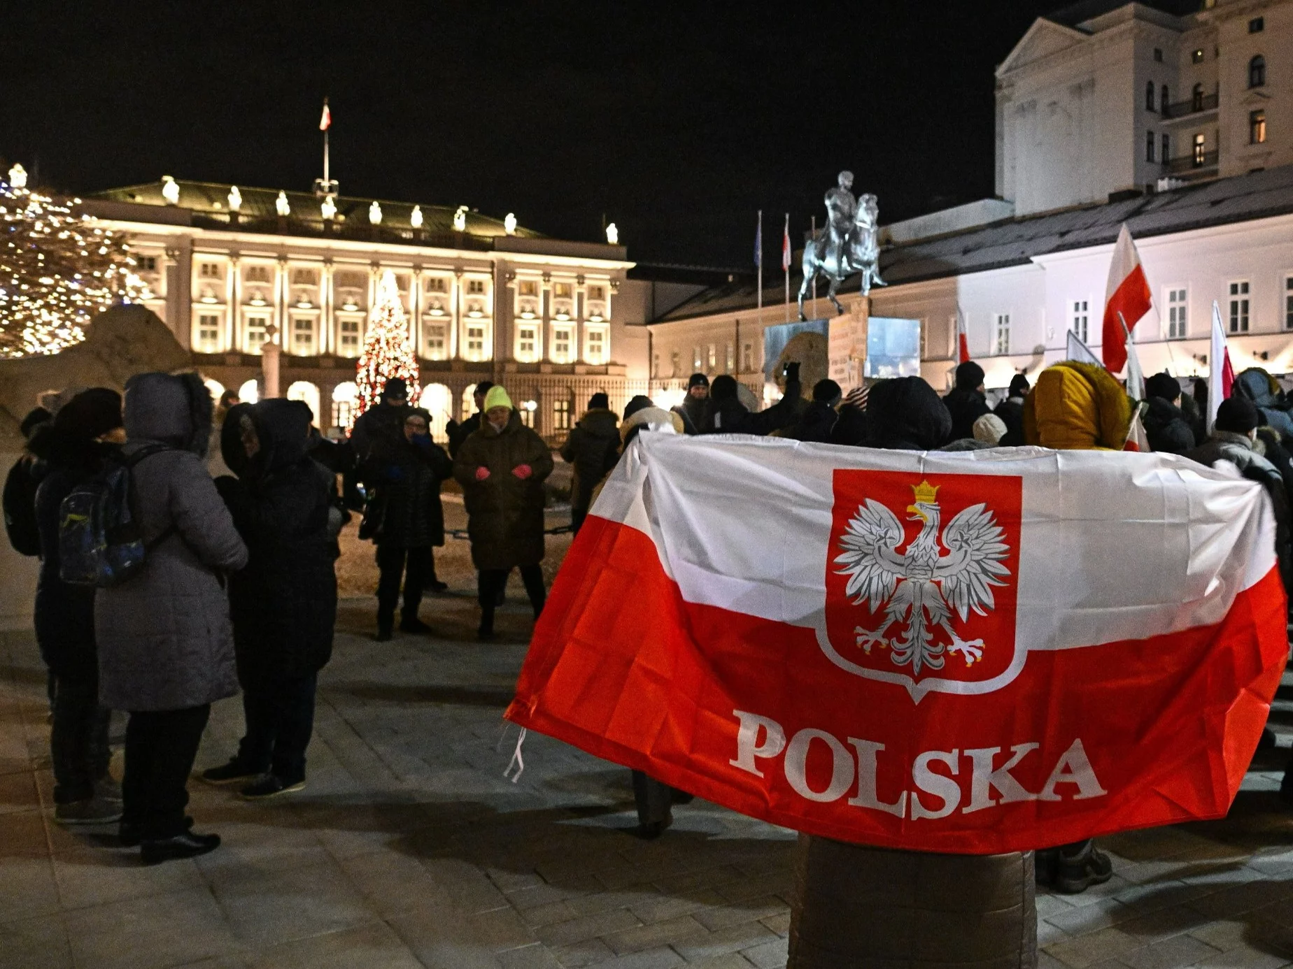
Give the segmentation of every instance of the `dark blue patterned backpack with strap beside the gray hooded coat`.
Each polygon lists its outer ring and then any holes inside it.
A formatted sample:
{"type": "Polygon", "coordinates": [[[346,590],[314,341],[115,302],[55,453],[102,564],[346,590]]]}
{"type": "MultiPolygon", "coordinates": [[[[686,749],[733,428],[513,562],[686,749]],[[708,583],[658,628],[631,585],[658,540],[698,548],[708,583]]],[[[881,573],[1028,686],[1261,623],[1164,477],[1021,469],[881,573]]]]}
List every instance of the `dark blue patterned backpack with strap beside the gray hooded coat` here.
{"type": "Polygon", "coordinates": [[[169,451],[147,444],[114,455],[93,478],[78,484],[58,506],[58,578],[71,585],[107,589],[136,575],[147,553],[175,531],[145,543],[131,506],[131,472],[145,457],[169,451]]]}

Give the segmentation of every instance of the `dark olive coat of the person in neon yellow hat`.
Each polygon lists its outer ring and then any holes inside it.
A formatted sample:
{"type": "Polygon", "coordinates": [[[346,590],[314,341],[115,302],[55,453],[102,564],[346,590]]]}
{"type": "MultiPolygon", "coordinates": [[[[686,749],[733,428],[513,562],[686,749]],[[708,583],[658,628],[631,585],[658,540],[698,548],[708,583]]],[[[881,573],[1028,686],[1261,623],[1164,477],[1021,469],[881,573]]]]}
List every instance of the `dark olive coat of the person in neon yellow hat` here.
{"type": "Polygon", "coordinates": [[[485,568],[513,568],[543,561],[543,479],[552,473],[552,453],[543,438],[512,412],[502,432],[487,420],[454,460],[454,478],[463,486],[472,563],[485,568]],[[533,474],[521,481],[512,470],[526,464],[533,474]],[[476,469],[489,477],[476,481],[476,469]]]}

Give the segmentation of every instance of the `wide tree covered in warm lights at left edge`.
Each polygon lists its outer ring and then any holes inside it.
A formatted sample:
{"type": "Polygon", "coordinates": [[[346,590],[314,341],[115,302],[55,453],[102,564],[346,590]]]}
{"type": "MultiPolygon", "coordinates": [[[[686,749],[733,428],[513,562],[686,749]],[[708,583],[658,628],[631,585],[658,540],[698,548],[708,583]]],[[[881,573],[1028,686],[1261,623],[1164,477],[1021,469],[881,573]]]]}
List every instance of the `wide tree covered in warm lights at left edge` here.
{"type": "Polygon", "coordinates": [[[114,302],[151,296],[127,240],[79,203],[27,189],[22,165],[0,177],[0,357],[58,353],[114,302]]]}

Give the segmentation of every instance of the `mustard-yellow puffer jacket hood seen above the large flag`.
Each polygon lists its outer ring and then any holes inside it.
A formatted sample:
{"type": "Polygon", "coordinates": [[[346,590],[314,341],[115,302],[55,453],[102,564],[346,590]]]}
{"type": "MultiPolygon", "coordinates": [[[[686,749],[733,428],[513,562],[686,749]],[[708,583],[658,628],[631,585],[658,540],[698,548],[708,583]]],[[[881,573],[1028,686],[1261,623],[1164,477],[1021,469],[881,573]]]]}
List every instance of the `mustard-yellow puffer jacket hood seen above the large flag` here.
{"type": "Polygon", "coordinates": [[[1094,363],[1047,367],[1024,398],[1024,441],[1060,451],[1121,451],[1131,428],[1131,402],[1118,381],[1094,363]]]}

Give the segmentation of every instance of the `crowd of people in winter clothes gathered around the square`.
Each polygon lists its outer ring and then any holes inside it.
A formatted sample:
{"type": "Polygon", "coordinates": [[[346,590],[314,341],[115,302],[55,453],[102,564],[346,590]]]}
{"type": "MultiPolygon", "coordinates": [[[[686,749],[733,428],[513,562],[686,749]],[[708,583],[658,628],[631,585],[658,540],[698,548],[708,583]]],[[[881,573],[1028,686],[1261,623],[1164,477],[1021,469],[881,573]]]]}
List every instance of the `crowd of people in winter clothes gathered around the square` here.
{"type": "MultiPolygon", "coordinates": [[[[1210,430],[1201,381],[1183,393],[1175,377],[1159,373],[1134,402],[1104,368],[1072,360],[1041,371],[1036,386],[1016,375],[996,407],[974,362],[957,367],[943,398],[919,377],[899,377],[847,395],[821,380],[804,399],[799,364],[781,376],[784,395],[767,410],[742,402],[727,375],[693,375],[672,410],[635,397],[622,420],[606,394],[593,394],[560,448],[573,466],[573,530],[641,433],[913,451],[1116,451],[1134,447],[1139,417],[1152,450],[1227,461],[1266,488],[1281,575],[1293,581],[1293,401],[1265,371],[1239,375],[1210,430]]],[[[378,641],[394,634],[397,609],[401,632],[432,633],[420,606],[425,592],[446,588],[434,549],[445,544],[441,492],[450,479],[467,512],[478,638],[495,637],[513,570],[538,619],[552,452],[503,386],[482,382],[475,399],[476,413],[449,422],[446,451],[398,379],[345,441],[323,438],[300,402],[246,404],[226,394],[216,407],[195,373],[134,376],[124,399],[106,388],[43,395],[22,422],[27,450],[5,482],[4,512],[14,548],[40,557],[35,632],[49,674],[56,820],[115,822],[122,844],[140,846],[145,862],[215,849],[219,836],[193,831],[185,813],[187,782],[211,704],[239,693],[242,740],[200,778],[237,786],[248,800],[304,787],[318,673],[332,652],[339,534],[352,510],[362,510],[358,537],[375,545],[378,641]],[[71,580],[66,559],[84,549],[69,541],[65,503],[111,479],[112,469],[129,482],[127,517],[142,565],[119,583],[71,580]],[[128,714],[120,784],[109,770],[111,711],[128,714]]],[[[689,800],[640,771],[634,792],[644,837],[658,837],[672,805],[689,800]]],[[[1281,793],[1293,801],[1293,773],[1281,793]]],[[[1040,851],[1037,860],[1038,879],[1063,891],[1085,890],[1112,871],[1090,840],[1040,851]]]]}

